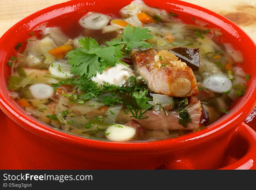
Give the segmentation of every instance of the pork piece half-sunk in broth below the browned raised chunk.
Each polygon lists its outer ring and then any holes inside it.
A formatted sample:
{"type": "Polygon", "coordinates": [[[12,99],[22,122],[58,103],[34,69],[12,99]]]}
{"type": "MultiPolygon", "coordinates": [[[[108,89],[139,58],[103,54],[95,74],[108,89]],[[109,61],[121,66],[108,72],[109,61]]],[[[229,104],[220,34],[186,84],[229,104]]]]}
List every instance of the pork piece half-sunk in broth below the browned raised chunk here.
{"type": "MultiPolygon", "coordinates": [[[[179,112],[175,110],[156,112],[154,110],[147,111],[143,116],[146,119],[134,119],[139,122],[145,129],[161,129],[161,130],[193,130],[203,126],[208,121],[208,115],[199,100],[193,97],[189,98],[189,104],[185,107],[191,118],[191,123],[187,123],[187,127],[179,124],[179,112]]],[[[117,117],[117,123],[128,122],[131,120],[131,113],[120,111],[117,117]],[[125,114],[126,113],[126,114],[125,114]]]]}

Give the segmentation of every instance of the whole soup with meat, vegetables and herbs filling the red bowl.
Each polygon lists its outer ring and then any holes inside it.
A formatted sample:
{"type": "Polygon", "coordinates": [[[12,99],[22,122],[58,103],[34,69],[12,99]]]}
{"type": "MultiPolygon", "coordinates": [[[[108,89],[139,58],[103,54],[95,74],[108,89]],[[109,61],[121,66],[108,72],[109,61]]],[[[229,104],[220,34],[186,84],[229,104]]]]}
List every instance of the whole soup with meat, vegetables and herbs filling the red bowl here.
{"type": "Polygon", "coordinates": [[[74,22],[75,37],[59,26],[32,32],[7,63],[10,97],[55,129],[115,142],[175,138],[228,114],[246,91],[243,55],[207,23],[143,1],[74,22]]]}

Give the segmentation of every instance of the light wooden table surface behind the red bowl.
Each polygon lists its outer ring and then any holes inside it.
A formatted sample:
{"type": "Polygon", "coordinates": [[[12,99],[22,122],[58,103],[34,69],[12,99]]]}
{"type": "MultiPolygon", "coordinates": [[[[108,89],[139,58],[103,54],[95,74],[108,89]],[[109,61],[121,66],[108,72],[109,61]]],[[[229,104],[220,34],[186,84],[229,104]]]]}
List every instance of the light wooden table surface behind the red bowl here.
{"type": "MultiPolygon", "coordinates": [[[[0,37],[20,19],[67,0],[0,0],[0,37]]],[[[171,0],[170,0],[171,1],[171,0]]],[[[256,0],[184,0],[232,20],[256,42],[256,0]]]]}

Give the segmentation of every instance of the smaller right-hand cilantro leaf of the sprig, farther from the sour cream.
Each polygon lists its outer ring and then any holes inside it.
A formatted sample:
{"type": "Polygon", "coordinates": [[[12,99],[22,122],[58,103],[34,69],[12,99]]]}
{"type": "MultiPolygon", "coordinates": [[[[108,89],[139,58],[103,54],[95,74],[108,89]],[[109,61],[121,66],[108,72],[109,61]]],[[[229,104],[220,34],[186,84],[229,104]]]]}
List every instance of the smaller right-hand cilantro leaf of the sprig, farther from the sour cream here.
{"type": "Polygon", "coordinates": [[[149,33],[150,30],[147,28],[141,27],[132,27],[127,25],[123,29],[124,33],[122,33],[123,41],[127,41],[125,50],[129,52],[132,48],[150,48],[152,45],[144,40],[151,39],[153,36],[149,33]]]}

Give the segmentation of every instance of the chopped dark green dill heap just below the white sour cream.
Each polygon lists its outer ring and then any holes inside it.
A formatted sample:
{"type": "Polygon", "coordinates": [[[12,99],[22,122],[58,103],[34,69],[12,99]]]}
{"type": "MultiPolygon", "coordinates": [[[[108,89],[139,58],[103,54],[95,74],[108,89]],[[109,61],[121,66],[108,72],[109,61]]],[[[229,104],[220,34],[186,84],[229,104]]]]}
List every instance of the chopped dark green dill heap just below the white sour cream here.
{"type": "MultiPolygon", "coordinates": [[[[137,76],[130,77],[129,81],[132,86],[116,86],[116,85],[109,85],[107,83],[102,84],[100,86],[97,85],[94,81],[87,79],[87,77],[79,77],[76,78],[70,78],[66,80],[59,81],[58,84],[51,84],[55,89],[58,88],[58,86],[66,85],[66,84],[73,84],[78,87],[79,90],[81,90],[82,94],[77,95],[70,95],[70,94],[64,94],[65,97],[68,97],[71,99],[72,102],[79,102],[82,100],[82,102],[85,102],[87,100],[91,100],[93,98],[97,98],[99,95],[102,95],[106,92],[113,92],[112,96],[104,96],[101,98],[101,100],[98,100],[99,102],[103,102],[106,105],[114,105],[114,104],[123,104],[122,101],[120,101],[119,97],[115,97],[117,93],[128,93],[131,95],[131,97],[135,100],[132,102],[133,105],[127,105],[127,108],[133,113],[132,117],[143,119],[143,114],[147,111],[147,109],[150,109],[152,105],[148,104],[147,101],[151,100],[152,97],[149,97],[147,86],[144,83],[137,83],[137,76]],[[146,99],[145,99],[146,98],[146,99]],[[145,109],[142,111],[142,109],[145,109]]],[[[111,111],[110,111],[111,113],[111,111]]],[[[127,114],[127,111],[124,111],[125,114],[127,114]]],[[[112,114],[112,113],[111,113],[112,114]]]]}

